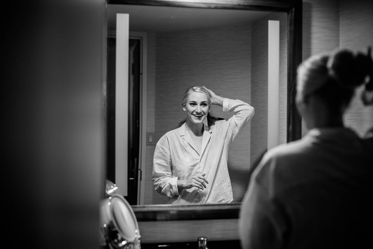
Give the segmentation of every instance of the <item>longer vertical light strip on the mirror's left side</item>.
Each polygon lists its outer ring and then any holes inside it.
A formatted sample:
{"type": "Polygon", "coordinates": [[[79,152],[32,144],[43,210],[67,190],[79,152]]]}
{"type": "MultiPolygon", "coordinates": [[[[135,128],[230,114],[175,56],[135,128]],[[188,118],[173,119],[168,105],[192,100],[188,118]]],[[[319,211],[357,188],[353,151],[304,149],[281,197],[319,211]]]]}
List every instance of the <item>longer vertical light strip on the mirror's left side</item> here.
{"type": "Polygon", "coordinates": [[[115,184],[128,195],[128,45],[129,15],[116,16],[115,61],[115,184]]]}

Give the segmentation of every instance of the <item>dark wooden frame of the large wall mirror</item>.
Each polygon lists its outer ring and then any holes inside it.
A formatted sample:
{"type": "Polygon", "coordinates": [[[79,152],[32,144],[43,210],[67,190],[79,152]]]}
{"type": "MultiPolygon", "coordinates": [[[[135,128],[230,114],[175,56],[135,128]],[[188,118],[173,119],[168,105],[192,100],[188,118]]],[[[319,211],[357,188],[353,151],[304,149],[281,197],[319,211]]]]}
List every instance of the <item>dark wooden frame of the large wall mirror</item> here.
{"type": "MultiPolygon", "coordinates": [[[[288,13],[287,142],[301,138],[301,117],[295,106],[297,67],[302,61],[302,0],[106,0],[108,4],[261,10],[288,13]]],[[[133,205],[138,221],[236,219],[241,203],[133,205]]]]}

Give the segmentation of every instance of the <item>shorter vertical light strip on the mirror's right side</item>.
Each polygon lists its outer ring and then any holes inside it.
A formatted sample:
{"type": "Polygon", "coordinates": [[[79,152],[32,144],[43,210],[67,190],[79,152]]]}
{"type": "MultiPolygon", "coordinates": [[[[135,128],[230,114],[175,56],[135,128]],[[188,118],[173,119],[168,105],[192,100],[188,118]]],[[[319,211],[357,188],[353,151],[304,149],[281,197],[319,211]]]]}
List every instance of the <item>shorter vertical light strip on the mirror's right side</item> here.
{"type": "Polygon", "coordinates": [[[278,145],[280,22],[268,21],[268,130],[267,149],[278,145]]]}

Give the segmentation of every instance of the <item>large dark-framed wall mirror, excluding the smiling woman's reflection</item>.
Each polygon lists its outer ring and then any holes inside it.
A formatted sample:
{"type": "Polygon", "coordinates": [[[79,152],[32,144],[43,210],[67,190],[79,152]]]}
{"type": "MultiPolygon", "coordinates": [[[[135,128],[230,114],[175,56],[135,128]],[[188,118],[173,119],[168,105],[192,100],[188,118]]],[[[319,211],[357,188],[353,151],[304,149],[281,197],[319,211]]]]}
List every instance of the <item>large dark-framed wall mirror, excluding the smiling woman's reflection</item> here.
{"type": "MultiPolygon", "coordinates": [[[[237,215],[250,174],[264,152],[301,136],[293,104],[295,70],[301,61],[301,1],[107,3],[107,179],[117,184],[140,220],[170,210],[176,216],[190,215],[190,210],[237,215]],[[128,39],[121,45],[117,40],[123,34],[128,39]],[[278,47],[274,57],[273,41],[278,47]],[[118,56],[123,46],[128,48],[124,59],[118,56]],[[275,86],[270,83],[273,72],[278,76],[275,86]],[[118,88],[122,78],[127,81],[124,93],[118,88]],[[195,85],[255,108],[229,151],[231,204],[164,205],[167,196],[153,187],[156,142],[185,119],[181,99],[186,88],[195,85]],[[273,88],[277,92],[269,95],[273,88]],[[118,107],[123,102],[124,107],[118,107]],[[123,108],[128,119],[118,119],[123,108]],[[118,136],[129,141],[123,153],[118,151],[118,136]],[[120,160],[128,163],[118,167],[120,160]]],[[[214,106],[211,116],[229,119],[232,114],[214,106]]]]}

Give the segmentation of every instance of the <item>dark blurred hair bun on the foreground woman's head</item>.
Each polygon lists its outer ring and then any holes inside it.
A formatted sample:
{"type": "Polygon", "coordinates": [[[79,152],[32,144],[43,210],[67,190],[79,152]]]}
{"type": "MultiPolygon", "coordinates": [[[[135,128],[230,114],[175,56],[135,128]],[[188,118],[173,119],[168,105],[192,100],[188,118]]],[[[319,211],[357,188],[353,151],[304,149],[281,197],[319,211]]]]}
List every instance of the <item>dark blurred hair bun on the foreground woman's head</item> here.
{"type": "Polygon", "coordinates": [[[353,54],[350,50],[338,50],[330,54],[327,62],[329,75],[336,79],[342,87],[355,88],[367,75],[367,56],[353,54]]]}

